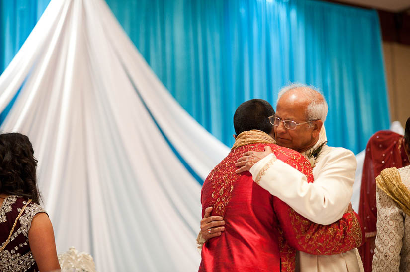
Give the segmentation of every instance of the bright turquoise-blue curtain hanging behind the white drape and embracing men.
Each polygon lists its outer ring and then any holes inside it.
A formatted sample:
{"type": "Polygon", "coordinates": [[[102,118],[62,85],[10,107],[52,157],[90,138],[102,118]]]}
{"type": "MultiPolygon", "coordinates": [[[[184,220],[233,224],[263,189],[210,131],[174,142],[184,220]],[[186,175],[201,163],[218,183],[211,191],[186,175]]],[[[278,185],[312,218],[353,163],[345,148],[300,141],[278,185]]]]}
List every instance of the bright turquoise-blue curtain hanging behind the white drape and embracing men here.
{"type": "MultiPolygon", "coordinates": [[[[1,67],[48,0],[1,1],[1,67]]],[[[323,91],[328,141],[358,153],[389,127],[377,12],[314,0],[106,0],[170,93],[228,146],[235,109],[289,82],[323,91]]]]}

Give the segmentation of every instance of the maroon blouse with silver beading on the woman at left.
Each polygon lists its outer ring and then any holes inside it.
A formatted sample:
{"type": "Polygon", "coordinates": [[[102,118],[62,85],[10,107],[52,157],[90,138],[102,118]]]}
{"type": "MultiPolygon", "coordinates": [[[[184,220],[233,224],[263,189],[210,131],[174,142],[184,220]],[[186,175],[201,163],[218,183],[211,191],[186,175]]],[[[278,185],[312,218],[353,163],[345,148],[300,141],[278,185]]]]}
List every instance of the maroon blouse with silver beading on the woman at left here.
{"type": "Polygon", "coordinates": [[[0,251],[0,272],[38,271],[28,244],[28,230],[33,217],[46,211],[39,204],[28,202],[26,198],[11,195],[4,199],[0,207],[0,249],[6,243],[16,222],[8,244],[0,251]],[[17,219],[24,207],[24,211],[17,219]]]}

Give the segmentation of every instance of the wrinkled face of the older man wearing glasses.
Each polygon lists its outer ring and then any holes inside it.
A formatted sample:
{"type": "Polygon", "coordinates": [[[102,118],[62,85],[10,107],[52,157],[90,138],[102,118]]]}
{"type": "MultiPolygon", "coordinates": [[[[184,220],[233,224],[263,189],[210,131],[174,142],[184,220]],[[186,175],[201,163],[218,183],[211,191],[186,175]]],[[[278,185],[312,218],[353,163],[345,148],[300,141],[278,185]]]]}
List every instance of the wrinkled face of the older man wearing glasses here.
{"type": "MultiPolygon", "coordinates": [[[[301,97],[297,92],[289,91],[279,99],[275,116],[281,120],[303,123],[309,121],[305,117],[305,110],[308,105],[309,101],[306,98],[301,97]]],[[[310,124],[313,126],[306,123],[298,125],[294,130],[290,130],[284,127],[283,122],[280,122],[279,126],[274,127],[277,144],[298,152],[308,150],[319,140],[322,121],[312,121],[310,124]]]]}

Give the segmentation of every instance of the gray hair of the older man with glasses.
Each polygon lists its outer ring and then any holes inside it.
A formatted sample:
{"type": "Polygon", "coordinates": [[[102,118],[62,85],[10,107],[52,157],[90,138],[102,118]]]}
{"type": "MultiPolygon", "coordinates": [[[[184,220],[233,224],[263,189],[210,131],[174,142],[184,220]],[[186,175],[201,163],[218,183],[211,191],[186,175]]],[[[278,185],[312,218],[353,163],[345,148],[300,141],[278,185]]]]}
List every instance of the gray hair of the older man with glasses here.
{"type": "Polygon", "coordinates": [[[283,87],[279,91],[276,105],[284,93],[293,89],[302,89],[303,94],[311,101],[306,108],[306,120],[322,120],[322,122],[325,122],[326,116],[328,115],[328,103],[326,103],[326,99],[322,93],[313,86],[291,83],[283,87]]]}

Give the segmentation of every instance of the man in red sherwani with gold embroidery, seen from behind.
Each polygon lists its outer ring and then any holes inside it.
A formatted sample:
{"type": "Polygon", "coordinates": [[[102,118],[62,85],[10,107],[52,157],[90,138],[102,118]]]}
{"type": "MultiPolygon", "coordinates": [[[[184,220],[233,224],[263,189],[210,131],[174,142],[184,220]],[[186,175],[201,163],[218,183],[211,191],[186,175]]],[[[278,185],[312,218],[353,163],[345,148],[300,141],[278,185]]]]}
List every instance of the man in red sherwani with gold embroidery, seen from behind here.
{"type": "Polygon", "coordinates": [[[304,156],[273,144],[268,135],[272,133],[268,117],[273,114],[270,104],[259,99],[246,101],[235,112],[235,144],[208,175],[201,191],[202,217],[212,206],[212,215],[224,218],[225,231],[203,245],[199,271],[294,271],[296,249],[337,254],[364,241],[360,235],[364,230],[354,211],[331,225],[318,225],[262,189],[249,172],[235,173],[235,163],[244,152],[263,151],[269,145],[278,160],[313,182],[312,168],[304,156]]]}

